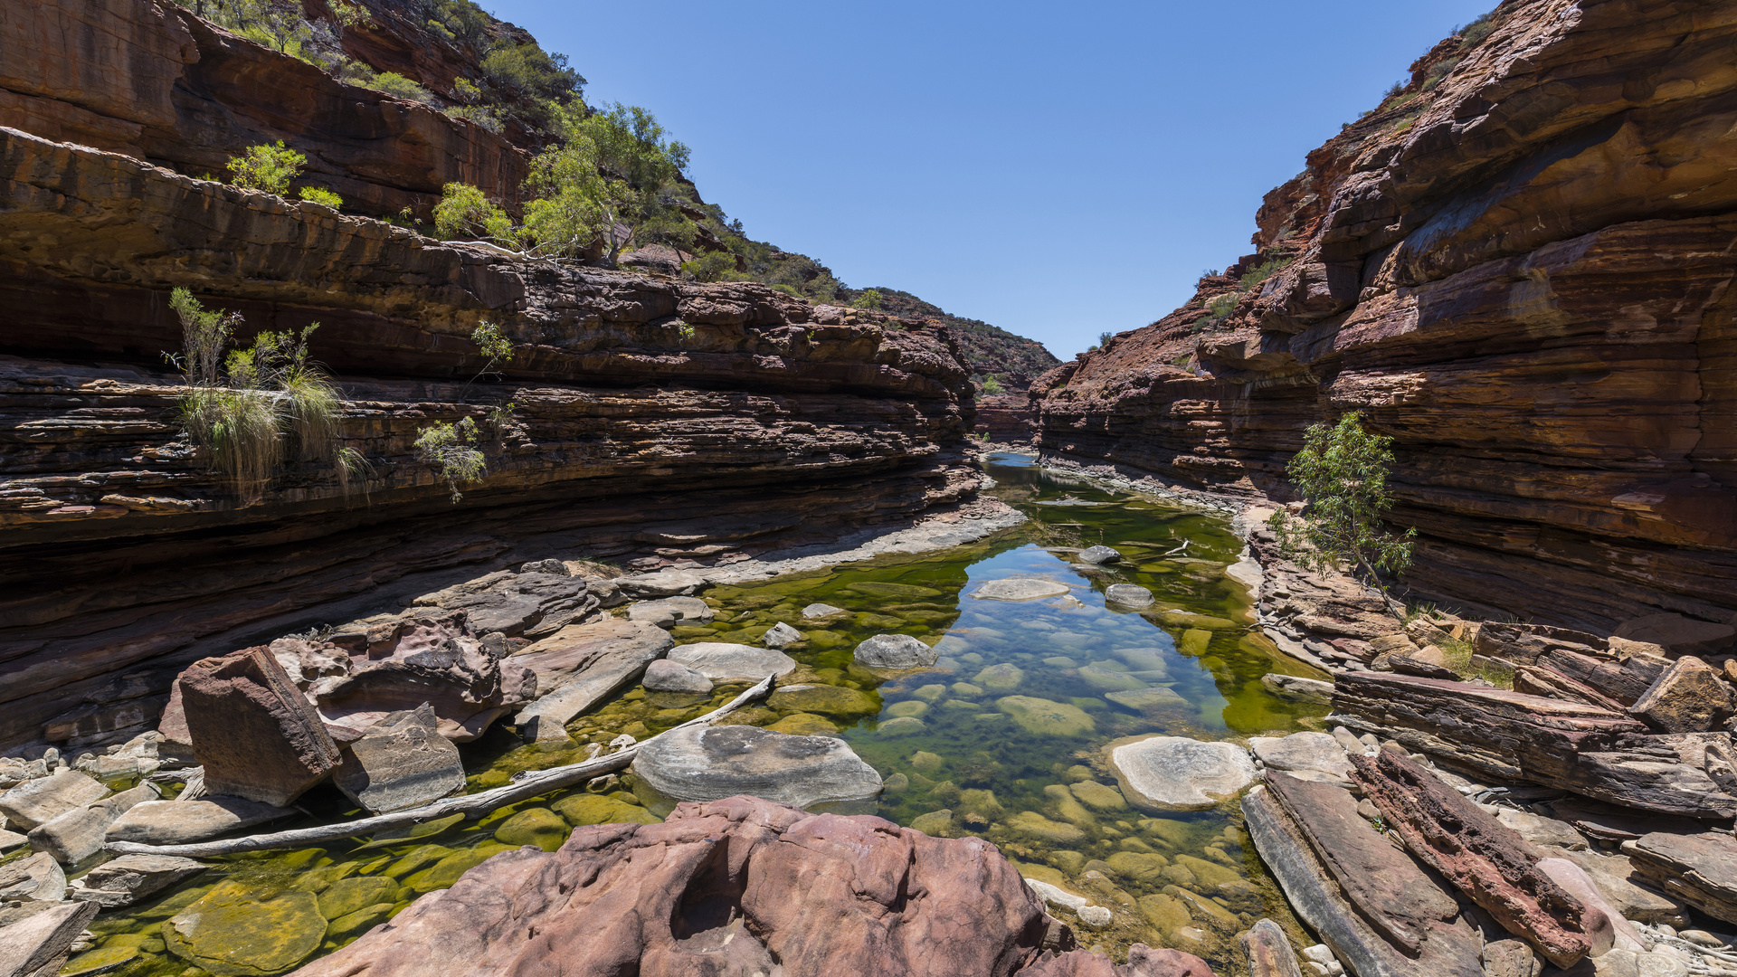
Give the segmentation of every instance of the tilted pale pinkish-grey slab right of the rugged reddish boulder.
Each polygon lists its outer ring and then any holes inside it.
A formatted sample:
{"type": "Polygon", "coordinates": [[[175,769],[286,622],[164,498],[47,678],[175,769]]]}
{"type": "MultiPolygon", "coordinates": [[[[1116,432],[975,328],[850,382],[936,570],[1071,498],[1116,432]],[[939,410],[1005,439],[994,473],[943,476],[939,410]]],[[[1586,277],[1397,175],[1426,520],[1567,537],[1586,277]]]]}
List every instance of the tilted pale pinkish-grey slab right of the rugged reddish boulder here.
{"type": "Polygon", "coordinates": [[[618,617],[561,628],[507,659],[530,669],[538,692],[512,723],[526,739],[563,741],[573,716],[639,681],[674,645],[662,628],[618,617]]]}

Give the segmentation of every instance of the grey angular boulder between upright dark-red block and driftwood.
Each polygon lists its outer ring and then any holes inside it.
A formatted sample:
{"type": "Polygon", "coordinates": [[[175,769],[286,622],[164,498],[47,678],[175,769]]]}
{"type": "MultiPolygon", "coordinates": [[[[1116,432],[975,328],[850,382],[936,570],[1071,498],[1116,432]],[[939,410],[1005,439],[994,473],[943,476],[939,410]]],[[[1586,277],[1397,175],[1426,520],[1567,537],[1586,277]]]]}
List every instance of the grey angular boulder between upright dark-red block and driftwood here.
{"type": "Polygon", "coordinates": [[[332,782],[370,814],[391,814],[462,791],[464,761],[424,702],[386,716],[346,746],[332,782]]]}

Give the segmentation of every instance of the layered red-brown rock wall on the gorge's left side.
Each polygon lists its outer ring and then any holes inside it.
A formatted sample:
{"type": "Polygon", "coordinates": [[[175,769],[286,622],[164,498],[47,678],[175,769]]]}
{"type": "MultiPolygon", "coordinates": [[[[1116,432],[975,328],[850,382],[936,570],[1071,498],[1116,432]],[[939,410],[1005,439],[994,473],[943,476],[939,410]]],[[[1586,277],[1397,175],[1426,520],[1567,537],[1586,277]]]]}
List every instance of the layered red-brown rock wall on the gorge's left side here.
{"type": "Polygon", "coordinates": [[[976,492],[947,329],[756,283],[523,261],[368,216],[422,207],[448,179],[518,186],[523,160],[167,0],[9,7],[0,746],[155,723],[193,661],[490,570],[730,563],[976,492]],[[280,137],[344,214],[189,176],[280,137]],[[250,499],[212,471],[163,362],[182,346],[175,287],[241,313],[238,344],[320,323],[311,355],[363,478],[346,490],[330,464],[290,461],[250,499]],[[479,377],[481,322],[514,353],[479,377]],[[486,475],[455,506],[413,442],[466,417],[486,475]]]}

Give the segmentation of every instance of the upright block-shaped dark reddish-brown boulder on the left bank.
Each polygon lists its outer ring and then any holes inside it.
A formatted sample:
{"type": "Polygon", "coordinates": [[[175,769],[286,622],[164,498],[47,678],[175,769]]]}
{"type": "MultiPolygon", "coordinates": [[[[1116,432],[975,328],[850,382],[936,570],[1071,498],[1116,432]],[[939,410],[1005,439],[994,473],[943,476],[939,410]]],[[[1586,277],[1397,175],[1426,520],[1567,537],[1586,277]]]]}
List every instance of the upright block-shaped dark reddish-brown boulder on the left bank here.
{"type": "Polygon", "coordinates": [[[283,807],[339,765],[320,714],[266,648],[195,662],[175,683],[210,793],[283,807]]]}

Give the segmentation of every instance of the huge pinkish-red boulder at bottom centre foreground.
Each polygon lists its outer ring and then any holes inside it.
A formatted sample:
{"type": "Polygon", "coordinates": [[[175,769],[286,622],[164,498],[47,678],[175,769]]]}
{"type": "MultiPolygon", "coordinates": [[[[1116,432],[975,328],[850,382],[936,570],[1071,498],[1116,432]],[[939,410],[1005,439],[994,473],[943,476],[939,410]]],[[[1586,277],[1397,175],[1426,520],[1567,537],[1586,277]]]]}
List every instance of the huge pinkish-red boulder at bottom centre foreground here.
{"type": "Polygon", "coordinates": [[[1127,965],[1143,970],[1113,968],[1101,954],[1032,970],[1061,960],[1040,963],[1044,935],[1042,902],[987,841],[730,798],[683,803],[664,824],[578,827],[554,854],[495,855],[297,977],[460,968],[650,977],[775,967],[888,977],[1209,977],[1186,954],[1145,947],[1127,965]],[[568,881],[580,878],[582,887],[568,881]],[[526,932],[538,937],[526,940],[526,932]]]}

